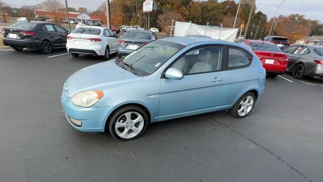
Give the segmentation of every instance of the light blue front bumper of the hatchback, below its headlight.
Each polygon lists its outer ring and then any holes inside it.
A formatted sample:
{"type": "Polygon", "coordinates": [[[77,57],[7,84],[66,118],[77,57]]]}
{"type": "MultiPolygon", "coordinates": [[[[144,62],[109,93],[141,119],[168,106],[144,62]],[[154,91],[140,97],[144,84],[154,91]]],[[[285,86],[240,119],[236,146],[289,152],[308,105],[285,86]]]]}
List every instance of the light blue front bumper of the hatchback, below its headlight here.
{"type": "Polygon", "coordinates": [[[91,106],[83,108],[72,104],[72,99],[67,97],[63,92],[61,96],[62,106],[65,111],[68,122],[77,130],[86,132],[104,132],[105,122],[112,112],[113,107],[91,106]],[[71,118],[80,121],[78,126],[71,118]]]}

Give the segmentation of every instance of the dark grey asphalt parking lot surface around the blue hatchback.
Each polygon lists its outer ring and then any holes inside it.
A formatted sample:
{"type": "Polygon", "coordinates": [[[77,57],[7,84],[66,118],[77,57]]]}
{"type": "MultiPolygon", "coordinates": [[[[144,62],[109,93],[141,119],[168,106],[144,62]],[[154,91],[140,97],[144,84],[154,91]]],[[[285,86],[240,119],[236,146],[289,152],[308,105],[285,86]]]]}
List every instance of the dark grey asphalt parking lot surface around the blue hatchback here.
{"type": "Polygon", "coordinates": [[[322,181],[322,80],[267,78],[246,118],[216,112],[153,123],[121,142],[75,130],[61,106],[66,78],[100,62],[64,49],[0,51],[1,182],[322,181]]]}

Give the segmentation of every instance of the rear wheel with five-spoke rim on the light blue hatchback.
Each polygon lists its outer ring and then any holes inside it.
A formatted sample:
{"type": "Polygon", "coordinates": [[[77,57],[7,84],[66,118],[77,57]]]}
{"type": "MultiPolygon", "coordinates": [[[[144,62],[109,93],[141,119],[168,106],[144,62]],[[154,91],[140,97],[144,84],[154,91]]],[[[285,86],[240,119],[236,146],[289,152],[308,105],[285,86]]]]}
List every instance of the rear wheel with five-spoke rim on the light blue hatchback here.
{"type": "Polygon", "coordinates": [[[253,93],[248,92],[243,95],[232,109],[229,110],[230,114],[236,118],[246,117],[253,109],[256,97],[253,93]]]}

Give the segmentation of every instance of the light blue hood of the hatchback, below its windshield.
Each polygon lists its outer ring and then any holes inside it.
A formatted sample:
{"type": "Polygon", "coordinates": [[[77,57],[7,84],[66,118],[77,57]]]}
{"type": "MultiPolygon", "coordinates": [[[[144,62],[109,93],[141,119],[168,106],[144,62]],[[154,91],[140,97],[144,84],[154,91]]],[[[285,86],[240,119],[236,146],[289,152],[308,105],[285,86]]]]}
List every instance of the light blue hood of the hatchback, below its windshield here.
{"type": "Polygon", "coordinates": [[[80,92],[100,89],[102,86],[124,84],[141,79],[142,77],[122,69],[114,61],[106,61],[73,73],[66,80],[67,95],[72,97],[80,92]]]}

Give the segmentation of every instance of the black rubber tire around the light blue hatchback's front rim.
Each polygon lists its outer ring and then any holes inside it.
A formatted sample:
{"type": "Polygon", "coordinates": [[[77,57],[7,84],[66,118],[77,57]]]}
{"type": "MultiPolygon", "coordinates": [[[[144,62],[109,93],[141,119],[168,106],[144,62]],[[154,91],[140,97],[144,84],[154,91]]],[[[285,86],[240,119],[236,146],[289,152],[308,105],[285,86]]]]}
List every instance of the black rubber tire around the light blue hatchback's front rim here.
{"type": "Polygon", "coordinates": [[[134,106],[134,105],[128,105],[128,106],[121,107],[116,112],[114,112],[113,115],[110,117],[110,119],[107,122],[108,122],[107,126],[109,128],[109,132],[111,133],[111,135],[115,139],[123,140],[123,141],[130,141],[130,140],[137,139],[145,131],[145,129],[148,125],[148,116],[147,116],[147,113],[143,109],[141,109],[140,107],[134,106]],[[123,114],[125,114],[127,112],[137,112],[143,117],[143,127],[142,127],[141,131],[139,132],[139,134],[135,135],[132,138],[122,138],[121,136],[119,136],[117,134],[116,129],[115,129],[115,125],[116,125],[117,120],[123,114]]]}

